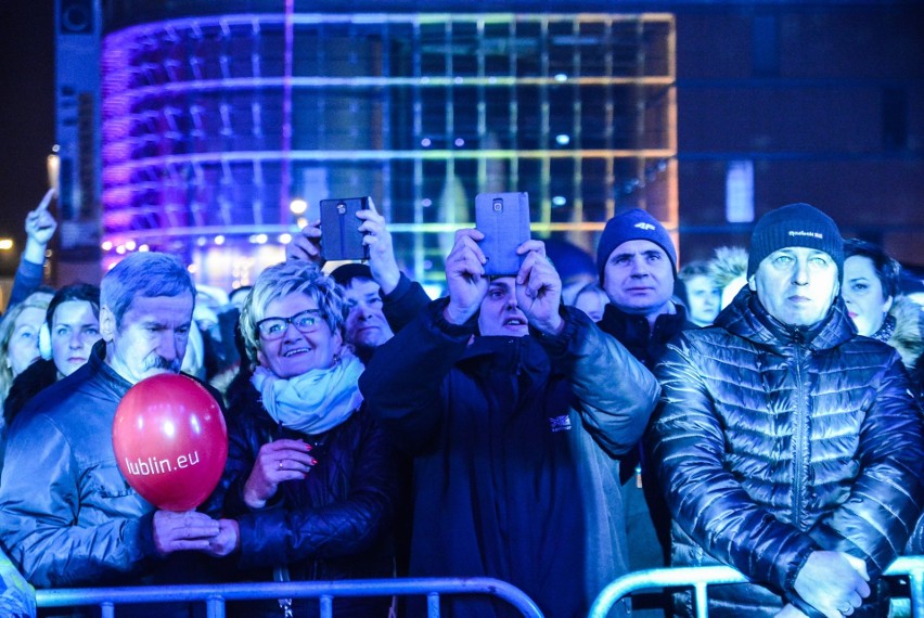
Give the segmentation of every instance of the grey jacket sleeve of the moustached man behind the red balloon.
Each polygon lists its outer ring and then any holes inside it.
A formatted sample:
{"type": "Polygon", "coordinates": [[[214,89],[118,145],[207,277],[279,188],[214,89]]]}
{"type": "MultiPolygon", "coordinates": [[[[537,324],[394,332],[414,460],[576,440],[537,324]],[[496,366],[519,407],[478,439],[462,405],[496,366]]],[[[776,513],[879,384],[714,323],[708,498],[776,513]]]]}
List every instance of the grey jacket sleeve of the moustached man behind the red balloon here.
{"type": "Polygon", "coordinates": [[[153,556],[151,515],[116,514],[124,490],[115,462],[92,479],[79,478],[66,437],[43,414],[22,415],[13,425],[0,486],[0,535],[23,576],[37,588],[64,588],[131,572],[153,556]],[[113,502],[113,516],[79,526],[87,492],[113,502]]]}

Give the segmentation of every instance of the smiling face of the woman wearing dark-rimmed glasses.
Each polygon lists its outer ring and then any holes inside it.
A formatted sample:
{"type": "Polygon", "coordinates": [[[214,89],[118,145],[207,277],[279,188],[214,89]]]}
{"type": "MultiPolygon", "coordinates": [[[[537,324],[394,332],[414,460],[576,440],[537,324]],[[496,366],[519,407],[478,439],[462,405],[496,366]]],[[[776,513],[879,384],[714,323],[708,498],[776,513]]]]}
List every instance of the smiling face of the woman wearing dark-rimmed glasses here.
{"type": "Polygon", "coordinates": [[[341,334],[331,332],[315,299],[300,292],[267,305],[266,318],[257,324],[257,333],[260,365],[282,378],[333,366],[334,357],[343,346],[341,334]]]}

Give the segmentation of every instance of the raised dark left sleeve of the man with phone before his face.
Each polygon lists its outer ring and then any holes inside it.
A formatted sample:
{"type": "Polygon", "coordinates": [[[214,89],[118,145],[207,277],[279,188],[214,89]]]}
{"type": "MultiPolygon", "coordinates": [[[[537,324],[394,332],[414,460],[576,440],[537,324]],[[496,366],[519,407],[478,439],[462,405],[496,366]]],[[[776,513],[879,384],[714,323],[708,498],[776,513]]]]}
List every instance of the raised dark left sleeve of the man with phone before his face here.
{"type": "Polygon", "coordinates": [[[442,414],[445,377],[465,351],[474,320],[454,325],[435,300],[388,343],[376,348],[359,378],[369,411],[406,450],[431,438],[442,414]]]}

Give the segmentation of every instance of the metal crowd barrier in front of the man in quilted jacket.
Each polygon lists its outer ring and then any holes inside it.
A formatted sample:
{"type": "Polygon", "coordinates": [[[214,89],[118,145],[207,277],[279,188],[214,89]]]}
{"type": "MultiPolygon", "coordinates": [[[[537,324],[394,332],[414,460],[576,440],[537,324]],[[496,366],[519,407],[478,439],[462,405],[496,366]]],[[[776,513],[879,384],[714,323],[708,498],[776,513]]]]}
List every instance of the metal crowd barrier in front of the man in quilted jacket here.
{"type": "MultiPolygon", "coordinates": [[[[908,577],[911,616],[924,618],[924,556],[902,556],[885,571],[886,576],[908,577]]],[[[613,606],[633,592],[658,588],[692,588],[697,618],[709,615],[707,588],[721,583],[744,583],[747,578],[728,566],[657,568],[630,572],[613,581],[596,596],[588,618],[606,618],[613,606]]]]}

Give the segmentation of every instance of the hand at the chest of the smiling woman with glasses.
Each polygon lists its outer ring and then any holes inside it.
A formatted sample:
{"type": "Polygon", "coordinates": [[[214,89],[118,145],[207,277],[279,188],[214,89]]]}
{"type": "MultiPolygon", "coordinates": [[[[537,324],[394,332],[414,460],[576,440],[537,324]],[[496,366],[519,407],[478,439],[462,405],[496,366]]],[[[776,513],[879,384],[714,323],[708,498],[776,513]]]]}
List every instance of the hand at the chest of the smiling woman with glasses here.
{"type": "Polygon", "coordinates": [[[309,454],[311,445],[301,440],[277,440],[260,447],[251,476],[244,484],[244,502],[251,508],[262,508],[275,495],[279,484],[300,480],[316,463],[309,454]]]}

